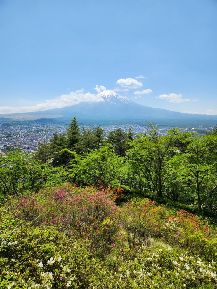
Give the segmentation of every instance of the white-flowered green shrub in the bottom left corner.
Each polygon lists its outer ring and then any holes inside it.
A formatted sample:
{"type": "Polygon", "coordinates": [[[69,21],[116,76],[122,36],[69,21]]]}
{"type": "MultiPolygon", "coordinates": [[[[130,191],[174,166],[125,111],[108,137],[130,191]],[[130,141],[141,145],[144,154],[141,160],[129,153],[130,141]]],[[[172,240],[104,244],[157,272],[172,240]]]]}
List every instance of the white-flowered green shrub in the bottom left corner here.
{"type": "Polygon", "coordinates": [[[84,246],[55,229],[27,224],[13,238],[1,251],[0,288],[86,288],[96,274],[84,246]]]}

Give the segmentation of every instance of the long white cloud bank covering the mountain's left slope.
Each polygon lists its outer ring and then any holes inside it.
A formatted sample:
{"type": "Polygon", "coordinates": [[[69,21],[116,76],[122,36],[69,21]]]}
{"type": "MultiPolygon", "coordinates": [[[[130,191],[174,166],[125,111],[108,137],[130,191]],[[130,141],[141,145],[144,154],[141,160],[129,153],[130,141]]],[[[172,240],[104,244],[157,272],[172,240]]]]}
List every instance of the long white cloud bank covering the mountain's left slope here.
{"type": "Polygon", "coordinates": [[[0,107],[0,114],[44,111],[52,108],[74,105],[83,101],[100,102],[104,100],[96,94],[91,94],[90,92],[84,93],[84,90],[81,89],[75,92],[72,91],[69,94],[62,94],[60,97],[56,97],[54,99],[48,99],[44,102],[36,104],[35,106],[2,106],[0,107]]]}

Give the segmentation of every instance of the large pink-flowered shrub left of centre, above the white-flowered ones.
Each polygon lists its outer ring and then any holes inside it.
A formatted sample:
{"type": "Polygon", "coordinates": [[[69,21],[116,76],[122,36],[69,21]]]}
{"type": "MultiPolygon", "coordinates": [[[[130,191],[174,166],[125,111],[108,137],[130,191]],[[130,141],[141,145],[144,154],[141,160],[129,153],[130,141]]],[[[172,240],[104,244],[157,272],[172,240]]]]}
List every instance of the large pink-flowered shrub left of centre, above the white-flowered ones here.
{"type": "Polygon", "coordinates": [[[89,187],[46,190],[12,199],[10,211],[35,226],[54,226],[74,240],[86,239],[89,250],[103,257],[112,250],[119,232],[117,206],[107,192],[89,187]],[[104,220],[110,222],[104,224],[104,220]]]}

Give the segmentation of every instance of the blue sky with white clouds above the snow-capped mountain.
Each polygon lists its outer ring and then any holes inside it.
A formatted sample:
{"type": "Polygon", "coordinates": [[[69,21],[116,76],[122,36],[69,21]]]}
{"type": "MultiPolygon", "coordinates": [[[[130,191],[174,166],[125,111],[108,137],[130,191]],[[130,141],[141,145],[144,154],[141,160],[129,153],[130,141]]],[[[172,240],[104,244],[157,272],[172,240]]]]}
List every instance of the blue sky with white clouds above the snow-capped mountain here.
{"type": "Polygon", "coordinates": [[[0,0],[0,113],[99,101],[217,115],[216,0],[0,0]]]}

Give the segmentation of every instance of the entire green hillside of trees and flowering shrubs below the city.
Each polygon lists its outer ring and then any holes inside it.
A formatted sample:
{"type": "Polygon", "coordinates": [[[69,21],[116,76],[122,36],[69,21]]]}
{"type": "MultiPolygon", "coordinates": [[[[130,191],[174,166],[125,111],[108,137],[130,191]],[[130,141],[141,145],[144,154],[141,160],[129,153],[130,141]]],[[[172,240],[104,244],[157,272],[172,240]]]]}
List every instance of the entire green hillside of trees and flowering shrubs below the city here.
{"type": "Polygon", "coordinates": [[[0,288],[216,288],[216,129],[104,137],[0,156],[0,288]]]}

